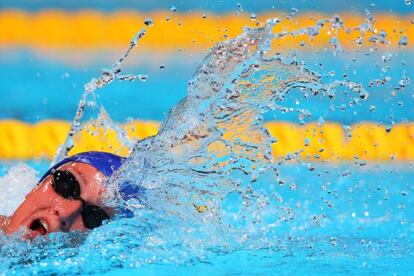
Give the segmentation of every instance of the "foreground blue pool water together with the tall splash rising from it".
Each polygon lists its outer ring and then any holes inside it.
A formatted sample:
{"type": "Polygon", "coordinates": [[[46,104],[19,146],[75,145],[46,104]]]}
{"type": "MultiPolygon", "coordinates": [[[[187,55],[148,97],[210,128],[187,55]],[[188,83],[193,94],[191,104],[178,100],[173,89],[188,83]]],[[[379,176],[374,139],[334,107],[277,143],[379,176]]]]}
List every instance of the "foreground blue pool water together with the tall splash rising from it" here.
{"type": "MultiPolygon", "coordinates": [[[[371,21],[368,17],[359,30],[370,33],[371,21]]],[[[142,199],[121,202],[134,211],[133,219],[111,220],[89,234],[54,233],[31,242],[1,236],[2,271],[412,271],[412,164],[310,164],[295,154],[286,158],[290,161],[272,160],[274,141],[263,127],[264,114],[297,112],[300,123],[312,118],[304,108],[286,106],[289,95],[305,102],[322,97],[336,110],[343,105],[335,102],[336,95],[346,94],[347,111],[363,105],[370,92],[354,78],[329,70],[329,79],[322,70],[307,69],[296,53],[269,51],[272,41],[286,35],[317,36],[322,21],[276,35],[274,24],[277,20],[216,45],[159,134],[131,147],[111,187],[117,190],[129,181],[146,189],[142,199]]],[[[323,24],[332,24],[333,31],[344,28],[337,17],[323,24]]],[[[344,54],[335,37],[331,44],[335,56],[344,54]]],[[[399,87],[403,90],[405,84],[399,87]]],[[[101,114],[99,120],[113,126],[96,103],[79,106],[82,112],[92,110],[88,120],[101,114]]],[[[82,127],[82,112],[74,120],[73,135],[82,127]]],[[[71,143],[69,139],[62,149],[71,143]]],[[[24,175],[33,179],[30,169],[24,175]]],[[[111,193],[107,203],[118,204],[111,193]]]]}

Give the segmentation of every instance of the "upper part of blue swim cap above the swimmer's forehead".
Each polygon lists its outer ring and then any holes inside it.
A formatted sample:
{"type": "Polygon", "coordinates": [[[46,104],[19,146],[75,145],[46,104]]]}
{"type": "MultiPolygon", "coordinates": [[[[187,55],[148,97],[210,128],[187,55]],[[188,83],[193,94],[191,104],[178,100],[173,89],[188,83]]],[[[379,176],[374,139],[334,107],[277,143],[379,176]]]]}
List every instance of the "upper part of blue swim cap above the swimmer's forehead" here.
{"type": "Polygon", "coordinates": [[[81,162],[85,164],[89,164],[95,168],[97,168],[100,172],[102,172],[105,176],[111,176],[116,170],[121,167],[122,162],[125,161],[126,158],[121,156],[102,152],[102,151],[87,151],[78,153],[76,155],[67,157],[62,161],[58,162],[57,164],[53,165],[47,172],[42,176],[39,180],[41,182],[45,179],[53,170],[56,170],[60,166],[69,163],[69,162],[81,162]]]}

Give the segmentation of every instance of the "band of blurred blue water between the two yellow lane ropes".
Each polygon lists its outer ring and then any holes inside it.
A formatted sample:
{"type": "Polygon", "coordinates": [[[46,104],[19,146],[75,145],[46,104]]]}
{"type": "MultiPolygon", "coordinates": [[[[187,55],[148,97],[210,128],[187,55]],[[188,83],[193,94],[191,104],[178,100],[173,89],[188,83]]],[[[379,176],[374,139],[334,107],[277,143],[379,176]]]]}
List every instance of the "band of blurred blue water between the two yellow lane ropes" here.
{"type": "MultiPolygon", "coordinates": [[[[383,52],[372,53],[371,56],[366,57],[365,53],[352,53],[349,56],[332,58],[330,52],[317,54],[306,52],[302,54],[302,58],[307,68],[314,69],[320,74],[328,75],[333,71],[340,76],[347,73],[352,75],[355,81],[364,85],[368,85],[371,80],[388,76],[391,78],[390,87],[398,87],[403,73],[407,76],[414,75],[414,67],[410,66],[414,60],[412,52],[393,52],[391,61],[387,64],[382,62],[383,54],[383,52]],[[357,58],[358,62],[350,63],[351,58],[357,58]],[[401,65],[404,61],[406,64],[401,65]],[[324,65],[323,71],[318,68],[319,62],[324,65]],[[385,65],[390,69],[384,73],[382,66],[385,65]]],[[[106,55],[114,57],[119,53],[106,55]]],[[[99,91],[99,102],[116,121],[122,122],[126,118],[165,120],[169,109],[187,94],[188,80],[205,54],[201,53],[191,58],[171,57],[157,64],[151,63],[151,59],[145,58],[146,55],[140,53],[138,49],[136,55],[131,56],[132,61],[128,62],[126,69],[131,73],[148,74],[149,79],[146,82],[113,83],[103,91],[99,91]],[[165,69],[161,70],[160,64],[164,65],[165,69]],[[137,103],[145,103],[145,106],[137,103]]],[[[298,55],[301,56],[300,53],[298,55]]],[[[89,64],[80,66],[45,60],[24,51],[4,52],[0,55],[0,75],[3,76],[0,100],[8,104],[1,107],[0,119],[14,118],[27,122],[48,118],[72,120],[83,85],[98,74],[99,68],[107,68],[113,61],[109,58],[103,59],[102,56],[105,54],[97,54],[95,58],[91,58],[89,64]],[[16,58],[10,58],[13,56],[16,58]]],[[[355,105],[345,111],[330,110],[329,101],[323,97],[310,97],[303,101],[298,93],[290,94],[285,103],[286,106],[310,110],[313,120],[323,116],[327,121],[343,124],[360,121],[385,124],[413,121],[414,112],[411,112],[410,104],[413,101],[413,83],[409,83],[405,91],[395,95],[391,94],[390,87],[371,88],[370,97],[363,105],[355,105]],[[298,105],[295,104],[297,99],[300,100],[298,105]],[[371,105],[376,107],[375,111],[370,111],[371,105]]],[[[347,101],[349,101],[348,95],[338,93],[335,100],[338,105],[347,101]]],[[[265,119],[298,122],[297,114],[292,112],[268,113],[265,119]]]]}

